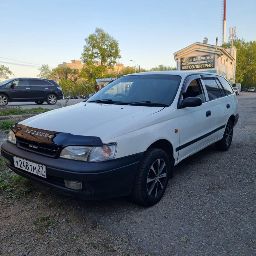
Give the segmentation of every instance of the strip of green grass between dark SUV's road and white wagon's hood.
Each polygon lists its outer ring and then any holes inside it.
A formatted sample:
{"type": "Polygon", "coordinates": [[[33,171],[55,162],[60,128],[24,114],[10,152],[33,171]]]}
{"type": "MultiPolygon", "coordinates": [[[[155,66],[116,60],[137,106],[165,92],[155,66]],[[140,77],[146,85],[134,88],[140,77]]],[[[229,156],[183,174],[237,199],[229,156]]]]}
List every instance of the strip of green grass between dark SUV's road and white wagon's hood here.
{"type": "Polygon", "coordinates": [[[23,109],[20,106],[18,107],[1,106],[0,116],[14,116],[18,114],[37,114],[37,113],[39,114],[39,113],[44,113],[50,110],[52,109],[42,108],[42,107],[23,109]]]}

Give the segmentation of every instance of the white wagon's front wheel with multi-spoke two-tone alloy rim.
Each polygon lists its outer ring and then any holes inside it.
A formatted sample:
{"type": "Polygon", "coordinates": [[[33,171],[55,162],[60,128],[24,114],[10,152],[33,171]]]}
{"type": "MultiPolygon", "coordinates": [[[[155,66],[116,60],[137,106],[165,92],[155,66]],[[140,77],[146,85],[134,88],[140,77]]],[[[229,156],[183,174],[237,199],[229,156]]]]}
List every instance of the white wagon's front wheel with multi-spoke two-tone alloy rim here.
{"type": "Polygon", "coordinates": [[[148,149],[140,161],[134,178],[131,196],[142,206],[152,206],[160,201],[166,190],[170,175],[167,154],[157,148],[148,149]]]}

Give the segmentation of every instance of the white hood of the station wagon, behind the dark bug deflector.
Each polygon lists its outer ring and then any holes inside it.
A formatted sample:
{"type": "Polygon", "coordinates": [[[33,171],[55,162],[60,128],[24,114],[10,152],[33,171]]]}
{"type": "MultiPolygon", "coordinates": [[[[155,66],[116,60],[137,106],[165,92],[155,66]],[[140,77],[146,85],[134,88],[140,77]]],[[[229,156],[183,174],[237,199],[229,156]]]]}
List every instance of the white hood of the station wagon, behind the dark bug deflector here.
{"type": "Polygon", "coordinates": [[[81,102],[28,118],[20,124],[55,132],[100,137],[103,142],[147,126],[146,118],[163,107],[81,102]],[[118,133],[118,134],[117,134],[118,133]]]}

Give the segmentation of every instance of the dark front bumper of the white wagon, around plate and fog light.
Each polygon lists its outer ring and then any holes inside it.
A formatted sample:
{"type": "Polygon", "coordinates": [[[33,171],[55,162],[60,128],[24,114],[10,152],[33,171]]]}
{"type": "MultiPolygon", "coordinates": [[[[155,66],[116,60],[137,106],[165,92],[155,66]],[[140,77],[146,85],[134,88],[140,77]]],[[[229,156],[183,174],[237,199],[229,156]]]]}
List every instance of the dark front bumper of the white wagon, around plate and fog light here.
{"type": "Polygon", "coordinates": [[[6,164],[16,174],[53,188],[69,196],[83,199],[102,199],[128,196],[133,186],[135,172],[143,153],[105,162],[83,162],[62,158],[49,158],[34,154],[5,142],[1,154],[11,164],[6,164]],[[23,171],[14,166],[13,156],[46,166],[47,178],[23,171]],[[81,190],[65,187],[64,180],[82,182],[81,190]]]}

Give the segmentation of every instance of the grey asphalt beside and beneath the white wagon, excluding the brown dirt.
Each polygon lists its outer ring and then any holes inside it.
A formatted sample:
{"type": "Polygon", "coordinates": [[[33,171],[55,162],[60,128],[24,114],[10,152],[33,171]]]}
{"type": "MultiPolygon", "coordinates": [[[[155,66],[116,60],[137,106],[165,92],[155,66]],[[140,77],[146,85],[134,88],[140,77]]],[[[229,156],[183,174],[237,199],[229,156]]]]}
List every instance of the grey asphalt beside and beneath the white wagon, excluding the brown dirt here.
{"type": "Polygon", "coordinates": [[[220,152],[211,145],[175,166],[174,178],[155,206],[137,206],[129,198],[82,201],[65,196],[58,203],[109,233],[128,235],[146,255],[255,256],[256,94],[240,93],[238,100],[230,149],[220,152]]]}

